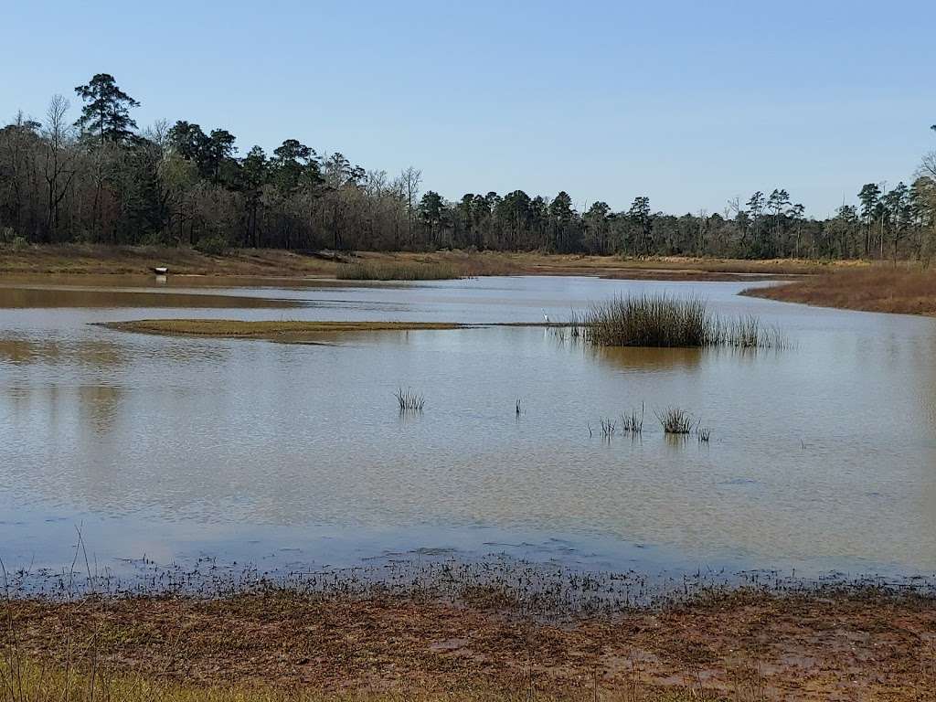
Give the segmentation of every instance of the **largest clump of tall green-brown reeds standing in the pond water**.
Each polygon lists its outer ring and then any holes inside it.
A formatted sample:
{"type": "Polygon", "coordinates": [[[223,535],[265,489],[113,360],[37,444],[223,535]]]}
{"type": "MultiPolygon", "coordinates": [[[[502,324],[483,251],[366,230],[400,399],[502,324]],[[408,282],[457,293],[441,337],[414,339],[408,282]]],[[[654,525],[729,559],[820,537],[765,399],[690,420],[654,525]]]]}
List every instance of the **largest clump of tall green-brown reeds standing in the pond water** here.
{"type": "Polygon", "coordinates": [[[668,295],[616,297],[594,304],[570,322],[573,338],[597,346],[775,348],[785,345],[779,329],[754,315],[725,319],[705,300],[668,295]]]}

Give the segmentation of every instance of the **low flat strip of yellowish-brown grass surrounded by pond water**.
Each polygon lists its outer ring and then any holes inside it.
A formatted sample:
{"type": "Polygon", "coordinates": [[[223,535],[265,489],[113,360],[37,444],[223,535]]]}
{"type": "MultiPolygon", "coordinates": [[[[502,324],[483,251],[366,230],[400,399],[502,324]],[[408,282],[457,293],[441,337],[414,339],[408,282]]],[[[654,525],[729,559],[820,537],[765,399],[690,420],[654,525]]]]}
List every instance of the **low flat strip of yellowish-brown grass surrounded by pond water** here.
{"type": "Polygon", "coordinates": [[[105,322],[101,326],[147,334],[179,334],[238,339],[300,338],[320,334],[359,331],[416,331],[419,329],[464,329],[448,322],[304,322],[297,320],[241,321],[237,319],[138,319],[105,322]]]}

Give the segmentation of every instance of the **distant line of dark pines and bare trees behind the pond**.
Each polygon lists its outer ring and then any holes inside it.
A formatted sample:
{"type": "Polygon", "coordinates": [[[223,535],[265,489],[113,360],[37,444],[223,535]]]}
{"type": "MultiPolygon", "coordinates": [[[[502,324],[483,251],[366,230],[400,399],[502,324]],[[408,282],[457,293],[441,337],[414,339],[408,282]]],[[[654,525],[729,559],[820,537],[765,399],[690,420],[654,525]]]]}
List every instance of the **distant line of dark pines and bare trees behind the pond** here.
{"type": "MultiPolygon", "coordinates": [[[[441,248],[629,256],[919,258],[936,253],[936,153],[909,183],[867,183],[854,204],[815,219],[778,187],[729,200],[723,212],[654,212],[649,197],[584,212],[561,191],[423,190],[422,174],[353,165],[285,139],[239,154],[221,127],[160,122],[139,129],[110,74],[51,98],[39,122],[0,128],[0,243],[88,242],[227,248],[428,251],[441,248]]],[[[936,125],[932,129],[936,131],[936,125]]],[[[908,165],[909,166],[909,165],[908,165]]]]}

